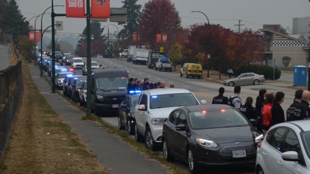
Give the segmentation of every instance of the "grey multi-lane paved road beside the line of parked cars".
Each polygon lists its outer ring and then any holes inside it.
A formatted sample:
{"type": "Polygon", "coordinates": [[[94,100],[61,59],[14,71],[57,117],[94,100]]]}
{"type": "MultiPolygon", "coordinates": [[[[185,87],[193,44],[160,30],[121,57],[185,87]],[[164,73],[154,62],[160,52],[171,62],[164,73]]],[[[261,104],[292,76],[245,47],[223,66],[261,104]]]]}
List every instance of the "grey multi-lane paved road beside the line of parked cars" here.
{"type": "MultiPolygon", "coordinates": [[[[218,94],[218,88],[223,86],[222,84],[206,82],[200,79],[190,79],[180,77],[176,72],[164,72],[155,71],[154,69],[148,69],[145,65],[135,65],[131,62],[126,62],[125,59],[102,59],[92,58],[92,61],[97,61],[98,64],[102,64],[104,68],[125,68],[129,72],[129,76],[138,78],[140,80],[148,78],[150,82],[166,81],[166,86],[173,83],[177,88],[186,88],[191,90],[199,100],[206,100],[207,103],[211,103],[211,99],[218,94]]],[[[81,73],[81,70],[76,70],[76,74],[81,73]]],[[[289,74],[288,74],[289,76],[289,74]]],[[[287,77],[286,77],[287,78],[287,77]]],[[[285,78],[285,79],[286,79],[285,78]]],[[[290,78],[292,79],[292,78],[290,78]]],[[[240,97],[243,101],[247,96],[251,96],[253,99],[258,95],[259,89],[265,88],[268,92],[282,91],[285,93],[285,100],[281,104],[284,110],[291,104],[293,100],[294,90],[286,88],[291,86],[289,82],[282,83],[262,83],[257,86],[247,85],[241,87],[240,97]]],[[[233,87],[224,86],[225,96],[230,96],[233,93],[233,87]]],[[[244,102],[243,102],[244,103],[244,102]]],[[[109,123],[112,126],[117,127],[118,121],[115,116],[102,117],[102,120],[109,123]]],[[[133,137],[132,137],[133,138],[133,137]]],[[[158,152],[160,153],[160,152],[158,152]]],[[[173,163],[178,168],[187,169],[187,165],[175,161],[173,163]]],[[[254,174],[254,168],[252,165],[234,166],[226,168],[211,167],[207,168],[209,174],[254,174]],[[233,171],[233,172],[232,172],[233,171]]],[[[203,171],[201,173],[204,173],[203,171]]]]}

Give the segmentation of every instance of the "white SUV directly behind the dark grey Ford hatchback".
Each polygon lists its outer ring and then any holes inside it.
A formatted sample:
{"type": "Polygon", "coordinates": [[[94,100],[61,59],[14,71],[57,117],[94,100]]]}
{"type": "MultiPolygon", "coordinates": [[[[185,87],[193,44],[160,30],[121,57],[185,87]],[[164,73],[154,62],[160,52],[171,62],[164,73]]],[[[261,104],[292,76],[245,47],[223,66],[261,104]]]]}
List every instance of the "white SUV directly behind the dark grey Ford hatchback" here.
{"type": "MultiPolygon", "coordinates": [[[[206,101],[202,100],[205,104],[206,101]]],[[[161,143],[162,125],[170,112],[181,106],[200,105],[187,89],[158,88],[142,91],[134,108],[134,138],[144,137],[145,146],[154,150],[161,143]]]]}

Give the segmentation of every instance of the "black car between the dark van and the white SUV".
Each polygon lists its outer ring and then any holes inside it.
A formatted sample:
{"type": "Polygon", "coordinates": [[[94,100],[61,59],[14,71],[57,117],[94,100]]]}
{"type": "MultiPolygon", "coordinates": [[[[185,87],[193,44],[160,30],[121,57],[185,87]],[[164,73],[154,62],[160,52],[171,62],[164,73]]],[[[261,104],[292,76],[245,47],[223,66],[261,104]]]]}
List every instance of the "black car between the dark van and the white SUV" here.
{"type": "Polygon", "coordinates": [[[127,94],[118,107],[118,128],[123,130],[126,125],[129,135],[134,133],[135,119],[133,116],[134,106],[139,98],[139,94],[129,95],[127,94]]]}

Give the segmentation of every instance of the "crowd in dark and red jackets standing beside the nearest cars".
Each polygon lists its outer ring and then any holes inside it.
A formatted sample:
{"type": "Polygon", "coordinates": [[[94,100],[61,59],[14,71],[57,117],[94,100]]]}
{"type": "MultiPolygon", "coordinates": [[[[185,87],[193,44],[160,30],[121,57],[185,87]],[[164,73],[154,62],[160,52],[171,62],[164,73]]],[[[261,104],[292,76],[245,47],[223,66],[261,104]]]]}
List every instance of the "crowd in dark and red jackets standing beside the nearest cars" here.
{"type": "Polygon", "coordinates": [[[247,97],[242,105],[240,95],[240,86],[234,87],[234,93],[228,98],[223,96],[225,89],[218,89],[218,96],[212,100],[212,104],[226,104],[233,106],[240,111],[248,120],[255,119],[257,124],[254,126],[262,133],[266,133],[268,129],[278,123],[303,120],[310,118],[310,91],[298,89],[295,91],[293,103],[286,110],[286,120],[281,103],[284,101],[283,92],[267,93],[265,89],[261,89],[256,97],[255,107],[252,106],[252,97],[247,97]]]}

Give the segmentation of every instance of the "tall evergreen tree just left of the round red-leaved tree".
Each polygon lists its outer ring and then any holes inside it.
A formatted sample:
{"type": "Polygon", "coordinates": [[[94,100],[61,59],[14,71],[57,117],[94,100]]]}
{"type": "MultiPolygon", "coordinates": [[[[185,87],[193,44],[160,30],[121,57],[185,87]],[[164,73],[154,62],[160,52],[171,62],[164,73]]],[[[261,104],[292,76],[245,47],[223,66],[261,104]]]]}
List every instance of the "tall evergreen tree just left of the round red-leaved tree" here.
{"type": "Polygon", "coordinates": [[[137,32],[138,20],[140,17],[140,4],[136,4],[137,0],[123,0],[122,7],[127,8],[127,23],[118,22],[118,24],[124,24],[123,29],[120,30],[119,35],[122,39],[132,41],[132,34],[137,32]]]}

